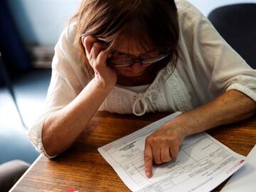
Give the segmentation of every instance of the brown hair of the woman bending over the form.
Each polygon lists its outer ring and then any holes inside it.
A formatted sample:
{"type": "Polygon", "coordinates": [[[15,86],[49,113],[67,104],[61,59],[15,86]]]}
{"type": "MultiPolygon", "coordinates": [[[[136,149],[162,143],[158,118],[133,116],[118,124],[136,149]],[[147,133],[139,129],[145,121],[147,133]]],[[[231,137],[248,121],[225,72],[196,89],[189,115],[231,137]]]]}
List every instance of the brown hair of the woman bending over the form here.
{"type": "MultiPolygon", "coordinates": [[[[178,14],[174,0],[83,0],[78,12],[71,18],[77,22],[76,45],[86,59],[80,36],[94,36],[112,48],[120,36],[136,40],[142,48],[168,48],[169,58],[157,65],[157,71],[166,63],[176,65],[178,59],[178,14]],[[153,44],[153,45],[152,45],[153,44]]],[[[86,64],[90,74],[90,65],[86,64]]],[[[156,65],[152,71],[156,71],[156,65]]]]}

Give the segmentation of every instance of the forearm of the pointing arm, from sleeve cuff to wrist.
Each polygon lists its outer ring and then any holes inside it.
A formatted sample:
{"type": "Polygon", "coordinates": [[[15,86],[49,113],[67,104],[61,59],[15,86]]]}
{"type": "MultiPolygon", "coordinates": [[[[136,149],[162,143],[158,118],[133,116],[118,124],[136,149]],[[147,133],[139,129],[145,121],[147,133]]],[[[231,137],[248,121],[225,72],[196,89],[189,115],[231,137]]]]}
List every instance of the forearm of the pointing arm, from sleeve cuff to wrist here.
{"type": "Polygon", "coordinates": [[[177,120],[186,127],[187,134],[246,119],[255,113],[256,103],[237,90],[228,90],[206,105],[179,115],[177,120]]]}

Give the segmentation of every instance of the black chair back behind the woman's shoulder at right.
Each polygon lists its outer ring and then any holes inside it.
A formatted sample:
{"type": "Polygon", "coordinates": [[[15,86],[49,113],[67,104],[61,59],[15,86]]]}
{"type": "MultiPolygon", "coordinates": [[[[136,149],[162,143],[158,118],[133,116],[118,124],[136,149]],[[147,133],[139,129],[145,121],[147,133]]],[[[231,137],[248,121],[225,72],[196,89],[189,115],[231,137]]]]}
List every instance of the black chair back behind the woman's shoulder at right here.
{"type": "Polygon", "coordinates": [[[256,69],[256,4],[222,6],[208,19],[220,35],[256,69]]]}

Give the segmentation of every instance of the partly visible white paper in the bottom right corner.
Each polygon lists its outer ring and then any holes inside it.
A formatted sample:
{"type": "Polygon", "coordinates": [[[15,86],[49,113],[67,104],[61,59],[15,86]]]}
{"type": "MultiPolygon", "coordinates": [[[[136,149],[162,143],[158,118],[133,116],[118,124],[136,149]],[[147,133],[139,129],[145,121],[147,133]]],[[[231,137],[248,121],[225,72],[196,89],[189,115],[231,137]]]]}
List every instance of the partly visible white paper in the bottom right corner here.
{"type": "Polygon", "coordinates": [[[246,165],[230,178],[221,192],[256,191],[256,146],[250,151],[246,161],[246,165]]]}

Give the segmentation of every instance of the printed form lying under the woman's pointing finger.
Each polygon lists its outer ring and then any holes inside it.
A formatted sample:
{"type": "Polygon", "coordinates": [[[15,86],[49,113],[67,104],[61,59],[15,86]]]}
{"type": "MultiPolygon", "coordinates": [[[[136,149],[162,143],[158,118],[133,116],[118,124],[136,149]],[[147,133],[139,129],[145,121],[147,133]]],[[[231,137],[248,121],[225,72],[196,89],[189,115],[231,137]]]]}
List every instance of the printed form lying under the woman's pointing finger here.
{"type": "Polygon", "coordinates": [[[153,176],[147,178],[144,171],[145,139],[178,114],[181,112],[98,149],[131,191],[211,191],[245,164],[245,156],[236,154],[203,132],[186,137],[178,157],[169,163],[154,165],[153,176]]]}

